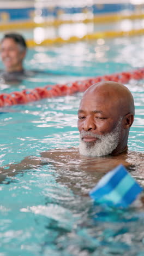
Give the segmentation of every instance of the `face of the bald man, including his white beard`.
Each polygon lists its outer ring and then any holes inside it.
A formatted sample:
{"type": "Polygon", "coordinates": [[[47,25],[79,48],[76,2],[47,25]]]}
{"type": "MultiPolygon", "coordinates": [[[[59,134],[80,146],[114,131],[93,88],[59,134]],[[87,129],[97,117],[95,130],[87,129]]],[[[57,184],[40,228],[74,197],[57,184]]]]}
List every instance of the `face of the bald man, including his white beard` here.
{"type": "Polygon", "coordinates": [[[80,153],[87,156],[111,154],[121,137],[121,123],[112,98],[98,91],[86,93],[78,112],[80,153]]]}

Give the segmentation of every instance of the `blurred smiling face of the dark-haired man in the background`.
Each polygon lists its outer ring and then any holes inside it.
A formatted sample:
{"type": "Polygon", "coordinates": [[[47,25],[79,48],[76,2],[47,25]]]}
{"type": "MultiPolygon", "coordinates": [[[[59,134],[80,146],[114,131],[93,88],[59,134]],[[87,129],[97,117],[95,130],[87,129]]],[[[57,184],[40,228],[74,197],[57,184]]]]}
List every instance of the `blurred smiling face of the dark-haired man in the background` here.
{"type": "Polygon", "coordinates": [[[21,51],[20,46],[12,38],[5,38],[1,44],[1,57],[6,71],[19,71],[25,51],[21,51]]]}

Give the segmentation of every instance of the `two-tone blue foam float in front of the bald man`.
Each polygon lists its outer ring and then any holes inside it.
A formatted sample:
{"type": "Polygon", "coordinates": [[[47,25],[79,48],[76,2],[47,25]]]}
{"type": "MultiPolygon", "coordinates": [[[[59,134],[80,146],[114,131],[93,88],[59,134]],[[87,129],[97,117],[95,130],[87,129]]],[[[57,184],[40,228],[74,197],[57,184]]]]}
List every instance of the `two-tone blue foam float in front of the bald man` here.
{"type": "Polygon", "coordinates": [[[142,190],[125,167],[119,165],[100,179],[97,185],[89,191],[89,196],[98,203],[128,207],[142,190]]]}

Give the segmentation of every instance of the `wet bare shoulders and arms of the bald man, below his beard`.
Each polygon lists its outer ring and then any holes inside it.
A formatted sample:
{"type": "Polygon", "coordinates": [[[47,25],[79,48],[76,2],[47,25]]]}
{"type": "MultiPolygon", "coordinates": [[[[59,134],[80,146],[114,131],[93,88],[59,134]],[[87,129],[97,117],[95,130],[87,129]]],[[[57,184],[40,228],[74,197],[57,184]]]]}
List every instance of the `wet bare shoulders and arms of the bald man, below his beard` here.
{"type": "MultiPolygon", "coordinates": [[[[28,157],[9,168],[0,168],[0,182],[7,176],[14,177],[17,173],[23,173],[30,169],[36,170],[45,165],[57,172],[56,181],[67,185],[75,194],[87,195],[105,173],[119,164],[123,164],[144,185],[143,154],[139,152],[123,152],[119,155],[90,158],[82,156],[77,148],[53,149],[41,152],[40,158],[28,157]],[[49,167],[49,164],[51,165],[49,167]]],[[[6,180],[7,181],[7,180],[6,180]]]]}

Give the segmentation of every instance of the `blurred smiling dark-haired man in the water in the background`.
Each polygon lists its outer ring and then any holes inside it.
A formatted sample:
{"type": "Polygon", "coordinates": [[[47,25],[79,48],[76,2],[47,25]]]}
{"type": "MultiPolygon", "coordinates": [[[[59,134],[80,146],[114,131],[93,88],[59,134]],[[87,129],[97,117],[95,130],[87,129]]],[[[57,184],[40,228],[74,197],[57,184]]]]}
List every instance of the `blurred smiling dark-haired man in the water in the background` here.
{"type": "MultiPolygon", "coordinates": [[[[17,33],[7,33],[1,40],[1,60],[5,70],[0,70],[0,82],[20,84],[21,80],[35,75],[57,75],[45,70],[23,68],[23,60],[27,53],[26,40],[17,33]]],[[[58,74],[59,75],[59,74],[58,74]]]]}

